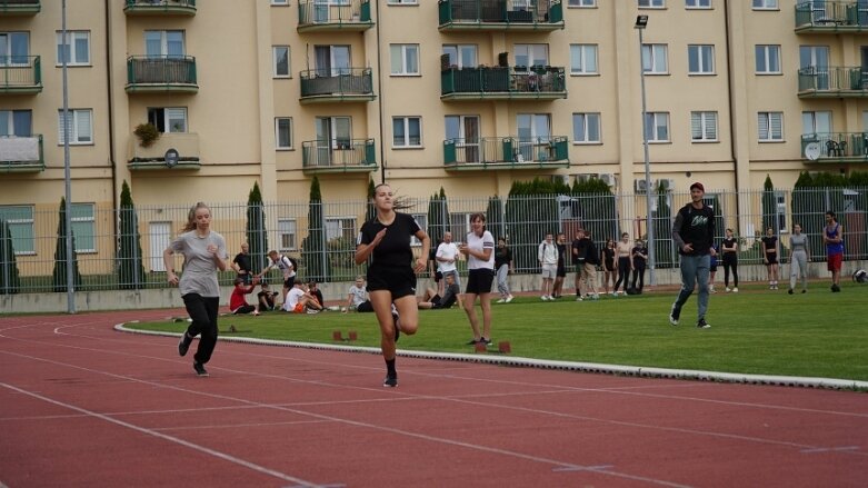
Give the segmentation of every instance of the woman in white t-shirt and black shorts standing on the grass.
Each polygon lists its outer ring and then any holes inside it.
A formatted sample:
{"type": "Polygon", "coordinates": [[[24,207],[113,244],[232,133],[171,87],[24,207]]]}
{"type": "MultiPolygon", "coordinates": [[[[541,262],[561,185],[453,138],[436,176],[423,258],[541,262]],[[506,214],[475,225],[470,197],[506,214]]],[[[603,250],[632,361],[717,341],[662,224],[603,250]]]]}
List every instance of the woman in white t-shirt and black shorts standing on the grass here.
{"type": "MultiPolygon", "coordinates": [[[[565,246],[566,248],[566,246],[565,246]]],[[[470,216],[470,233],[459,248],[467,256],[467,288],[465,288],[465,312],[470,320],[473,339],[468,345],[491,343],[491,281],[495,279],[495,238],[486,230],[486,215],[470,216]],[[482,309],[482,332],[476,315],[476,298],[482,309]]]]}

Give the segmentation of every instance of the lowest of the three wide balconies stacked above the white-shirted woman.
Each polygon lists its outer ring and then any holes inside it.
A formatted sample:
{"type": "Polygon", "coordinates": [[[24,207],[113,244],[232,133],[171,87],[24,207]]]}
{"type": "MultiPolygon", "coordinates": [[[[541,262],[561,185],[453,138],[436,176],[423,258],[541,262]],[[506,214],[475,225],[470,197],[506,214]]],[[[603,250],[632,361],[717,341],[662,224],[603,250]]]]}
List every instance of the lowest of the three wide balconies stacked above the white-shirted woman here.
{"type": "Polygon", "coordinates": [[[569,140],[566,136],[447,139],[443,165],[453,171],[568,168],[569,140]]]}

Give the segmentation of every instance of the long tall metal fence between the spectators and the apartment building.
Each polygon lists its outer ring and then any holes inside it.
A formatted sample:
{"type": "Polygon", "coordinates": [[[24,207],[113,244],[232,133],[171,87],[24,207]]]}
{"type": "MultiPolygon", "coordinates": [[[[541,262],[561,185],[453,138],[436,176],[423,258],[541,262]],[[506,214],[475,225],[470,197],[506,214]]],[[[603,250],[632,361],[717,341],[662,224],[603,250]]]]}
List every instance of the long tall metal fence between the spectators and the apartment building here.
{"type": "MultiPolygon", "coordinates": [[[[621,232],[633,239],[647,235],[643,193],[403,201],[408,205],[403,211],[413,215],[429,235],[439,237],[450,230],[456,241],[466,240],[471,213],[486,212],[488,229],[496,238],[507,239],[519,273],[538,270],[537,248],[548,232],[563,232],[569,241],[581,227],[591,231],[600,248],[606,239],[617,240],[621,232]]],[[[671,241],[671,221],[689,202],[689,193],[664,191],[652,201],[656,265],[674,267],[678,255],[671,241]]],[[[868,188],[740,193],[708,190],[706,201],[718,216],[717,241],[726,228],[739,238],[740,262],[761,262],[759,237],[768,227],[780,238],[780,256],[787,257],[794,223],[800,223],[808,236],[814,260],[825,259],[821,235],[826,210],[834,210],[844,227],[845,259],[868,257],[868,188]]],[[[249,242],[255,271],[265,267],[269,249],[297,259],[303,278],[349,281],[365,271],[363,266],[355,265],[353,252],[359,229],[372,211],[367,201],[266,202],[261,208],[229,202],[210,203],[210,208],[212,229],[226,237],[230,261],[241,243],[249,242]],[[258,219],[261,225],[256,223],[258,219]]],[[[137,206],[134,223],[123,227],[121,213],[107,205],[74,203],[74,259],[81,275],[77,290],[164,287],[162,251],[180,232],[188,211],[187,205],[137,206]],[[119,235],[121,228],[136,228],[138,236],[119,235]],[[138,246],[128,245],[121,252],[119,247],[124,240],[138,241],[138,246]],[[124,266],[134,267],[137,262],[140,273],[122,272],[124,266]]],[[[124,218],[129,220],[130,215],[124,218]]],[[[59,271],[66,263],[62,241],[58,242],[58,207],[0,206],[0,293],[66,291],[66,273],[59,271]]],[[[420,251],[419,242],[413,242],[413,249],[420,251]]],[[[177,257],[174,269],[181,269],[181,265],[177,257]]],[[[272,277],[278,280],[276,271],[272,277]]],[[[222,285],[230,285],[232,278],[231,271],[220,275],[222,285]]]]}

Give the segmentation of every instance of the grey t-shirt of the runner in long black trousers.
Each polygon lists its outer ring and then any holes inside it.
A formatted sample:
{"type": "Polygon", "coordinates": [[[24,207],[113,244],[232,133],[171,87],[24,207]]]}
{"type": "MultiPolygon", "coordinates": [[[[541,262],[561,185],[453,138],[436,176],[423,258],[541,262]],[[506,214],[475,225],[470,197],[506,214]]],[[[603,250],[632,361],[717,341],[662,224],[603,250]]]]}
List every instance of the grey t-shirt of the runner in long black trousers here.
{"type": "Polygon", "coordinates": [[[198,237],[194,230],[178,236],[169,247],[183,255],[183,272],[178,283],[181,296],[199,293],[202,297],[219,297],[217,262],[208,246],[217,246],[217,256],[227,259],[226,239],[213,230],[207,237],[198,237]]]}

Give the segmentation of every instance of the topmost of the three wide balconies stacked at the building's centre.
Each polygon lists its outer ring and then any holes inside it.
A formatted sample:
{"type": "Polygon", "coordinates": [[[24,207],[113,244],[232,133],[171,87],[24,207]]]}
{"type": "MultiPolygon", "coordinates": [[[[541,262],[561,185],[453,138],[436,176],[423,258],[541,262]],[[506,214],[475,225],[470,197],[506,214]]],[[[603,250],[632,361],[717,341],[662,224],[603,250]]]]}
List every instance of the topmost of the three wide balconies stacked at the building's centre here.
{"type": "Polygon", "coordinates": [[[560,1],[538,0],[517,6],[512,0],[440,0],[440,31],[536,31],[563,29],[560,1]]]}

